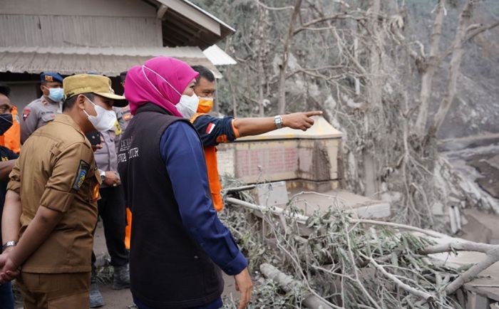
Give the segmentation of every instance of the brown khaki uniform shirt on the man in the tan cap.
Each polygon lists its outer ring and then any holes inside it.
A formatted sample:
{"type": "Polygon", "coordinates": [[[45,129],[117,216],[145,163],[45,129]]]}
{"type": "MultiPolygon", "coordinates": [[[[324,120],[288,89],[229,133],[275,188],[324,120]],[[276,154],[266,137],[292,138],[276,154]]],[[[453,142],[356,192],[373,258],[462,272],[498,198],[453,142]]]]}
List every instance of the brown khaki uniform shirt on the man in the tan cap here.
{"type": "Polygon", "coordinates": [[[24,144],[10,174],[8,189],[21,196],[22,235],[38,207],[61,211],[63,217],[26,260],[28,273],[91,271],[93,229],[97,222],[100,177],[90,142],[64,114],[36,130],[24,144]]]}

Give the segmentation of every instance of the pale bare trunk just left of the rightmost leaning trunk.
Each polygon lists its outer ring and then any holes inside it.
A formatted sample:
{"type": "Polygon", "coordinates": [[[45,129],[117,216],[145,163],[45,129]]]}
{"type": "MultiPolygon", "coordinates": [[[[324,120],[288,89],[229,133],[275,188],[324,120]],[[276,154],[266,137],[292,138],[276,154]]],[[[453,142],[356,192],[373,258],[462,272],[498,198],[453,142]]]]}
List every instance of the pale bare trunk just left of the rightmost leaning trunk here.
{"type": "MultiPolygon", "coordinates": [[[[439,45],[442,37],[442,25],[446,11],[446,1],[439,0],[436,8],[436,18],[433,23],[433,33],[431,33],[430,54],[423,63],[423,76],[421,78],[421,93],[418,118],[414,127],[416,135],[423,137],[426,131],[426,122],[428,121],[428,105],[431,97],[431,88],[433,83],[433,75],[438,68],[434,63],[438,56],[439,45]]],[[[425,55],[421,55],[425,57],[425,55]]]]}

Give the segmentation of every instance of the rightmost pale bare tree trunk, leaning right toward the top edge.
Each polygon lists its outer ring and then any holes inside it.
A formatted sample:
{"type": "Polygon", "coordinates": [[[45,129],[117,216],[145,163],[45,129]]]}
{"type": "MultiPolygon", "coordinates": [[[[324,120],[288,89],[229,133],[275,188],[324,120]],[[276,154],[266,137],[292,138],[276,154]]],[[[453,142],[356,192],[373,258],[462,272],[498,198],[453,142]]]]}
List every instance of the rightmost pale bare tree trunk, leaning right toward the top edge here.
{"type": "Polygon", "coordinates": [[[461,67],[461,60],[464,54],[464,42],[473,12],[474,2],[475,0],[466,1],[465,7],[461,12],[461,16],[459,16],[459,26],[456,31],[456,37],[453,41],[454,50],[451,58],[451,68],[449,68],[447,90],[446,94],[443,96],[438,111],[435,116],[433,116],[430,129],[428,130],[428,139],[430,140],[436,137],[449,108],[451,108],[452,101],[454,100],[454,97],[456,97],[456,84],[458,82],[459,68],[461,67]]]}

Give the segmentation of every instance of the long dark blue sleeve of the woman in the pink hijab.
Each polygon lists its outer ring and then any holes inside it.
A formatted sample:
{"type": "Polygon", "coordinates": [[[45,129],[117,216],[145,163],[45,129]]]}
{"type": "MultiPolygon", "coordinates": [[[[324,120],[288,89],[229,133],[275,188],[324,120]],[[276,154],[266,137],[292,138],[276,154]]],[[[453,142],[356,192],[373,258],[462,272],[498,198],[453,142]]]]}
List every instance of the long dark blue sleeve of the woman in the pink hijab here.
{"type": "Polygon", "coordinates": [[[185,122],[173,123],[161,137],[160,152],[183,226],[222,271],[237,275],[247,267],[247,260],[212,206],[205,157],[195,130],[185,122]]]}

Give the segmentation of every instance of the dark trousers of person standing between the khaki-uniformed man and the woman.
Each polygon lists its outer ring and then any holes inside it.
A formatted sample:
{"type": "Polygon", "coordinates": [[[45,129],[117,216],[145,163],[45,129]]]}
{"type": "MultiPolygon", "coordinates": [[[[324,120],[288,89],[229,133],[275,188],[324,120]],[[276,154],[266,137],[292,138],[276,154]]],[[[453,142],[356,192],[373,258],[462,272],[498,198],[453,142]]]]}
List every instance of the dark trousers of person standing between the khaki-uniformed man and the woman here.
{"type": "MultiPolygon", "coordinates": [[[[128,250],[125,248],[126,208],[123,187],[106,187],[99,190],[101,199],[97,201],[99,216],[104,225],[106,246],[112,266],[128,264],[128,250]]],[[[95,268],[96,255],[92,252],[92,268],[95,268]]]]}

